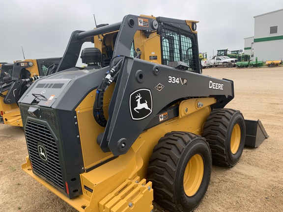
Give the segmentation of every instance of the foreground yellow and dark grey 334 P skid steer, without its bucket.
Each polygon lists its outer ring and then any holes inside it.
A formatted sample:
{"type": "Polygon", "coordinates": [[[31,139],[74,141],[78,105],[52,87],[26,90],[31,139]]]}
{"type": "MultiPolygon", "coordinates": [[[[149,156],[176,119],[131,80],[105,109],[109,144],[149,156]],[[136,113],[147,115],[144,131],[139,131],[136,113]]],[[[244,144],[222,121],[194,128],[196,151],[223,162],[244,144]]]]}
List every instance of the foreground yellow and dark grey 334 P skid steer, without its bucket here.
{"type": "Polygon", "coordinates": [[[19,100],[22,168],[80,212],[193,211],[212,162],[245,144],[233,82],[201,75],[195,21],[127,15],[74,31],[56,74],[19,100]],[[86,69],[75,67],[82,44],[86,69]]]}

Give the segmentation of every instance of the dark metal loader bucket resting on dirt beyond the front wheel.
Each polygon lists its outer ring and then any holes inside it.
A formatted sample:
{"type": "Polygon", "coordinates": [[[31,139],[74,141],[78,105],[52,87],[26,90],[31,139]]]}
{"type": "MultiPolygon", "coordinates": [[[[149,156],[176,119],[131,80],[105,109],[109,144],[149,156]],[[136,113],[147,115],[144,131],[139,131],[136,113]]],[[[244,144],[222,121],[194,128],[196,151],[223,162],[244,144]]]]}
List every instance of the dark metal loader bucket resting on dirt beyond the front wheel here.
{"type": "Polygon", "coordinates": [[[258,147],[265,138],[269,135],[265,131],[261,121],[255,120],[245,120],[246,124],[246,141],[245,146],[247,147],[258,147]]]}

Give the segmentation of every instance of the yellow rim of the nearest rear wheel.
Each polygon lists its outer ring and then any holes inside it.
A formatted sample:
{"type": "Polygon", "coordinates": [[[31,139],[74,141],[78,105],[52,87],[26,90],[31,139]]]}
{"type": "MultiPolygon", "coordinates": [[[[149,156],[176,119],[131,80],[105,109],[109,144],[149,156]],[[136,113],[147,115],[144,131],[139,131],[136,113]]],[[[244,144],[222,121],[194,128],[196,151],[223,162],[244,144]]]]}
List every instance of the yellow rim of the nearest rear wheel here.
{"type": "Polygon", "coordinates": [[[197,193],[204,173],[204,163],[200,155],[194,155],[188,162],[184,174],[184,190],[187,196],[197,193]]]}

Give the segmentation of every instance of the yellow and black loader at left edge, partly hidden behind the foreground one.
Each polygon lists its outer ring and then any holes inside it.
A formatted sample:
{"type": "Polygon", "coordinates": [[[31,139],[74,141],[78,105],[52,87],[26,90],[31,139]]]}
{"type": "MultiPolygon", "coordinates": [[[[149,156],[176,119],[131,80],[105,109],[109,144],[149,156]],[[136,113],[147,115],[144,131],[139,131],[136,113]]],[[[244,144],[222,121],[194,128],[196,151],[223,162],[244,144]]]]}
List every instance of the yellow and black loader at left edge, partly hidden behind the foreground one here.
{"type": "Polygon", "coordinates": [[[48,68],[61,58],[25,59],[2,64],[0,79],[1,123],[23,127],[18,101],[30,83],[39,76],[48,75],[48,68]],[[2,73],[6,73],[2,76],[2,73]]]}

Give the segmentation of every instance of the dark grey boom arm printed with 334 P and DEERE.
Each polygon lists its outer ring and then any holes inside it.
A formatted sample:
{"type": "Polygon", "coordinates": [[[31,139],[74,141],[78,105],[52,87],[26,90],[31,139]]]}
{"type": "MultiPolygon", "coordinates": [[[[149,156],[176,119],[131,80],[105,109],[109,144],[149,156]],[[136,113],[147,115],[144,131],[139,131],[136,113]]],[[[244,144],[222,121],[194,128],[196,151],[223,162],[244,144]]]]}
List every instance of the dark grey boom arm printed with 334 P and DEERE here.
{"type": "Polygon", "coordinates": [[[125,154],[152,118],[175,100],[215,97],[217,107],[224,107],[233,96],[232,81],[125,57],[100,147],[115,156],[125,154]]]}

